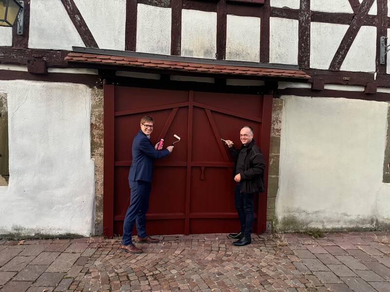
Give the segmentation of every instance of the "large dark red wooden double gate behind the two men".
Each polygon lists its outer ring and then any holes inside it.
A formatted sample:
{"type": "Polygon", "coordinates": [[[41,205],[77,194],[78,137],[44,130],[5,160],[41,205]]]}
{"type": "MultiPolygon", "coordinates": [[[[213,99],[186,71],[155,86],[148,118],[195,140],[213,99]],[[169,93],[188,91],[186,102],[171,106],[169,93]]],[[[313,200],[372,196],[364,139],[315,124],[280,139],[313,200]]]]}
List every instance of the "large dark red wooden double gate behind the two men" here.
{"type": "MultiPolygon", "coordinates": [[[[130,202],[127,181],[131,145],[144,115],[155,119],[152,143],[165,146],[181,137],[173,153],[155,162],[147,214],[149,234],[231,232],[239,224],[234,209],[233,160],[220,138],[239,147],[242,126],[254,128],[256,144],[268,161],[272,97],[146,88],[104,88],[104,234],[121,235],[130,202]],[[271,102],[271,103],[270,103],[271,102]],[[266,135],[264,133],[267,133],[266,135]],[[261,136],[266,139],[261,139],[261,136]],[[267,146],[268,145],[268,146],[267,146]]],[[[266,196],[261,194],[254,232],[265,229],[266,196]],[[257,226],[257,221],[261,226],[257,226]]],[[[258,200],[256,200],[258,201],[258,200]]]]}

